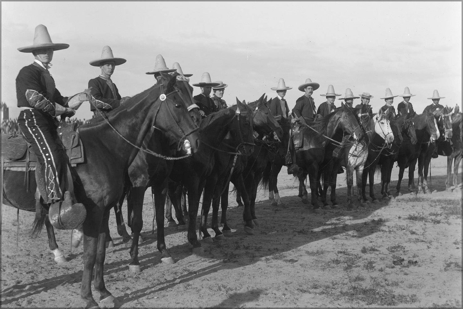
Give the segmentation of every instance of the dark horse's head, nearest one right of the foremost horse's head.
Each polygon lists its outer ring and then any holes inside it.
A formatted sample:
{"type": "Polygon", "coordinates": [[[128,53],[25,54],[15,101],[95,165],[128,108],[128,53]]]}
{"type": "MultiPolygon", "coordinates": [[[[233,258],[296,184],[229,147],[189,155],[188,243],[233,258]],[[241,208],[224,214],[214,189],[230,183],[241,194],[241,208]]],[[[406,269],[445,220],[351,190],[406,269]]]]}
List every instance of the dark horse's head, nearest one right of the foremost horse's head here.
{"type": "Polygon", "coordinates": [[[229,107],[234,116],[230,126],[230,135],[232,142],[237,149],[243,149],[245,154],[251,154],[254,151],[254,129],[252,123],[253,108],[236,99],[236,105],[229,107]]]}

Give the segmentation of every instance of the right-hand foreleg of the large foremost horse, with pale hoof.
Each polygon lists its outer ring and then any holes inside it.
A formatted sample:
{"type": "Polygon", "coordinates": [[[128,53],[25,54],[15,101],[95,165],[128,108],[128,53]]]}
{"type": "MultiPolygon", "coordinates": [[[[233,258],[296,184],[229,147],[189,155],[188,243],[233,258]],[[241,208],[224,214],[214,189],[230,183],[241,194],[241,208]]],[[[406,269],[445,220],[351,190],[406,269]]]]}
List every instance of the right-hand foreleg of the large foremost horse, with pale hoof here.
{"type": "Polygon", "coordinates": [[[96,259],[95,259],[95,272],[94,272],[94,288],[100,293],[100,304],[103,308],[119,308],[119,301],[106,290],[105,280],[103,277],[105,257],[106,257],[106,230],[109,221],[109,210],[103,213],[103,221],[100,227],[100,234],[98,235],[96,259]]]}

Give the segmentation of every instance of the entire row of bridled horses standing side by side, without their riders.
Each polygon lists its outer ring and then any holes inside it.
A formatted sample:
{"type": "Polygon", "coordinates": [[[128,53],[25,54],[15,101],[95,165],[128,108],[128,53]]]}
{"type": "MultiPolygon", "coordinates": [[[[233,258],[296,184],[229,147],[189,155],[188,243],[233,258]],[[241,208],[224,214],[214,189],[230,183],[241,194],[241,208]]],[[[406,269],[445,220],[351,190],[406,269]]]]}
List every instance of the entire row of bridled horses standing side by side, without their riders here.
{"type": "MultiPolygon", "coordinates": [[[[81,285],[81,296],[87,307],[98,306],[90,288],[95,264],[94,288],[100,292],[100,301],[105,306],[118,304],[117,299],[106,289],[103,277],[106,245],[110,240],[108,219],[111,208],[116,210],[118,233],[124,235],[124,241],[131,241],[129,269],[140,271],[138,244],[143,226],[146,189],[151,188],[152,191],[157,249],[162,254],[162,261],[166,263],[174,262],[164,240],[167,194],[177,210],[179,227],[186,227],[180,204],[182,192],[188,192],[188,242],[193,246],[193,252],[202,251],[196,233],[196,217],[203,192],[200,234],[203,234],[204,241],[212,241],[206,228],[211,204],[211,228],[215,238],[221,239],[231,233],[226,221],[230,181],[243,201],[244,231],[248,234],[253,234],[254,225],[257,225],[254,206],[260,183],[269,189],[269,197],[274,204],[282,204],[277,189],[277,176],[286,164],[285,155],[290,140],[288,133],[295,129],[290,120],[275,120],[267,107],[269,100],[264,95],[248,104],[237,99],[237,105],[201,120],[196,108],[188,108],[194,105],[191,86],[177,76],[162,74],[155,86],[132,97],[129,104],[79,128],[86,160],[77,164],[73,173],[76,179],[76,199],[87,210],[82,225],[84,271],[81,285]],[[127,119],[133,121],[128,122],[127,119]],[[114,132],[118,132],[134,147],[126,144],[114,132]],[[191,145],[192,155],[187,154],[186,158],[178,159],[187,153],[185,145],[191,145]],[[124,194],[121,195],[121,192],[124,194]],[[125,196],[132,240],[125,231],[120,211],[125,196]],[[218,222],[220,199],[222,230],[218,222]]],[[[342,105],[332,114],[313,123],[301,124],[298,132],[302,133],[302,142],[295,149],[295,157],[296,163],[302,168],[298,174],[302,201],[308,202],[304,183],[309,176],[312,204],[315,209],[319,208],[317,184],[323,171],[325,188],[322,201],[326,204],[324,195],[327,186],[332,185],[332,202],[335,205],[334,183],[338,167],[343,165],[347,173],[349,203],[354,169],[357,171],[359,200],[363,203],[366,200],[360,191],[360,188],[365,188],[365,185],[362,186],[363,170],[374,171],[377,164],[382,164],[389,169],[388,173],[383,173],[383,177],[386,174],[390,179],[394,160],[399,160],[402,173],[406,166],[414,170],[417,159],[419,166],[423,166],[424,161],[431,157],[440,132],[446,139],[451,139],[453,145],[459,145],[461,153],[461,113],[455,115],[460,117],[460,120],[454,121],[459,124],[458,143],[453,141],[451,135],[449,110],[446,114],[407,115],[388,119],[387,112],[369,114],[365,110],[342,105]],[[334,157],[333,151],[337,153],[334,157]],[[386,160],[391,162],[390,165],[385,163],[386,160]]],[[[457,135],[455,129],[453,133],[457,135]]],[[[461,158],[461,155],[458,157],[461,158]]],[[[7,200],[10,205],[35,211],[35,177],[29,177],[30,190],[26,191],[23,185],[24,172],[5,170],[4,173],[3,191],[4,196],[9,197],[7,200]]],[[[374,198],[371,176],[370,195],[374,198]]],[[[383,192],[387,195],[387,176],[383,184],[383,192]]],[[[42,214],[41,220],[34,222],[34,231],[39,231],[44,224],[55,260],[65,261],[56,245],[48,216],[42,214]]]]}

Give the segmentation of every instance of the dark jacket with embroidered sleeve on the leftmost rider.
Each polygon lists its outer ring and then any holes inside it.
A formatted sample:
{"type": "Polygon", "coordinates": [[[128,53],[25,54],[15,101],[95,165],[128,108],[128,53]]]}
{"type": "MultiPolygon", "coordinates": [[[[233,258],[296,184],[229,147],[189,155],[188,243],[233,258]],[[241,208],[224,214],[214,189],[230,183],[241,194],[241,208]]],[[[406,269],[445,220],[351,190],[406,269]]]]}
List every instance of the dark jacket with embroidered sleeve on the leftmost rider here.
{"type": "Polygon", "coordinates": [[[32,107],[46,116],[59,116],[64,113],[64,107],[68,107],[68,98],[56,89],[50,72],[35,62],[19,71],[16,97],[18,107],[32,107]]]}

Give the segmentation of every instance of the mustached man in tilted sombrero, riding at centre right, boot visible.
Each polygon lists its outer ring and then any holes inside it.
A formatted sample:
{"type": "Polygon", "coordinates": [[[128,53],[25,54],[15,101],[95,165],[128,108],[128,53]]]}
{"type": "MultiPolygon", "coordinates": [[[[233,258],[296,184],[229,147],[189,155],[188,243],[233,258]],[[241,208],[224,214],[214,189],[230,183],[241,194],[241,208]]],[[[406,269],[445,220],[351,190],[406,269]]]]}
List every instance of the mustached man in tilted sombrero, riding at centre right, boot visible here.
{"type": "Polygon", "coordinates": [[[302,85],[298,87],[300,91],[304,92],[300,98],[296,100],[296,105],[293,108],[293,115],[295,118],[295,126],[292,128],[292,143],[290,143],[289,151],[291,152],[291,159],[293,164],[288,166],[288,175],[293,174],[297,175],[300,167],[296,164],[296,155],[294,151],[294,146],[300,145],[301,141],[301,132],[300,125],[302,123],[312,122],[315,119],[316,109],[315,102],[313,101],[312,94],[314,90],[317,90],[320,87],[320,84],[317,82],[312,82],[310,78],[306,79],[302,85]]]}

